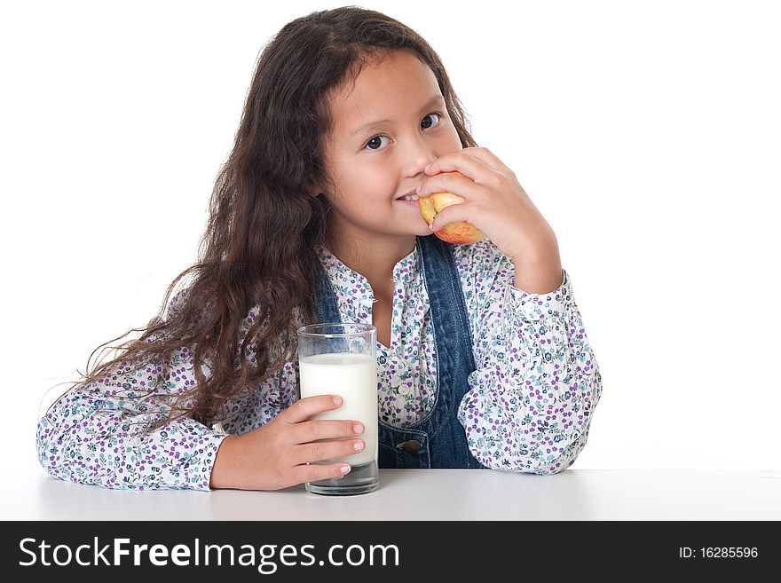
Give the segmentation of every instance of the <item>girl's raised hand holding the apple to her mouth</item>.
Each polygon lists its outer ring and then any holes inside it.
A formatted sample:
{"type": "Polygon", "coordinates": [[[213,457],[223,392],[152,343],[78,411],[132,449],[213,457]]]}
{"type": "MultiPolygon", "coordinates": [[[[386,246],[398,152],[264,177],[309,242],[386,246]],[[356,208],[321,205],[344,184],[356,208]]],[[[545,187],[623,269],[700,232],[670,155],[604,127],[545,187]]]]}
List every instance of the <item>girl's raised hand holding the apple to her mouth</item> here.
{"type": "Polygon", "coordinates": [[[464,148],[446,154],[426,169],[428,177],[418,188],[418,196],[449,192],[465,201],[442,209],[431,231],[448,223],[467,221],[475,225],[502,254],[519,257],[557,254],[556,235],[545,217],[518,183],[515,173],[488,148],[464,148]],[[474,182],[456,174],[458,170],[474,182]]]}

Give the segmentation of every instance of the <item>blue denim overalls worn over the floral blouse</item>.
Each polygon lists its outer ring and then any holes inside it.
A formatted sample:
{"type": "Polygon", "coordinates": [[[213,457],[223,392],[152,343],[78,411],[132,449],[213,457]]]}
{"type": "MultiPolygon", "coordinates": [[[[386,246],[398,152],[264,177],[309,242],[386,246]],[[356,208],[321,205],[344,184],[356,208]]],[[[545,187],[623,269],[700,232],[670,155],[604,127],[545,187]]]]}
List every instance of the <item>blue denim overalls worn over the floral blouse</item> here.
{"type": "MultiPolygon", "coordinates": [[[[484,468],[469,452],[456,417],[474,371],[471,334],[461,282],[450,244],[436,235],[417,237],[423,284],[429,295],[437,358],[437,398],[421,421],[400,429],[379,421],[380,468],[484,468]]],[[[316,302],[320,322],[342,322],[334,288],[317,262],[316,302]]]]}

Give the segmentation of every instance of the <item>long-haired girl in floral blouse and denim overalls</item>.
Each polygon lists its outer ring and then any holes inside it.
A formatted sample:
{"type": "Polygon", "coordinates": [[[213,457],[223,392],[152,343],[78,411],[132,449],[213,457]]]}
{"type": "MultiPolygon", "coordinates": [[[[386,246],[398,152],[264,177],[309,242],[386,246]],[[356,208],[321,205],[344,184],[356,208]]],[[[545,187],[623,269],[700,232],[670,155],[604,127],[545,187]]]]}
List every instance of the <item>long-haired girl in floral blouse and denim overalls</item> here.
{"type": "Polygon", "coordinates": [[[377,328],[384,468],[560,472],[602,390],[554,232],[469,135],[429,44],[355,7],[264,49],[199,260],[163,305],[39,421],[52,476],[209,491],[349,472],[308,463],[364,446],[359,423],[311,420],[338,398],[297,398],[296,329],[317,321],[377,328]],[[465,201],[429,228],[415,199],[440,191],[465,201]],[[431,233],[463,220],[486,239],[431,233]]]}

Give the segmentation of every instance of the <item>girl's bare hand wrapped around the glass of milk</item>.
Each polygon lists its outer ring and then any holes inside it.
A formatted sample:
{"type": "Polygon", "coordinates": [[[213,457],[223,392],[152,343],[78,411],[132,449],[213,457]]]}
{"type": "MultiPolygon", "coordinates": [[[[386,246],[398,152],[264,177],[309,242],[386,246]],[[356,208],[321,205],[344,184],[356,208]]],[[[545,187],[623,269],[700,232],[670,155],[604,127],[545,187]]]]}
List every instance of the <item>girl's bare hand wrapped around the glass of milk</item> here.
{"type": "Polygon", "coordinates": [[[241,436],[225,437],[211,471],[212,488],[279,490],[288,486],[344,476],[350,464],[307,462],[352,455],[366,446],[358,437],[358,421],[319,420],[310,417],[338,409],[338,395],[302,398],[263,427],[241,436]]]}

